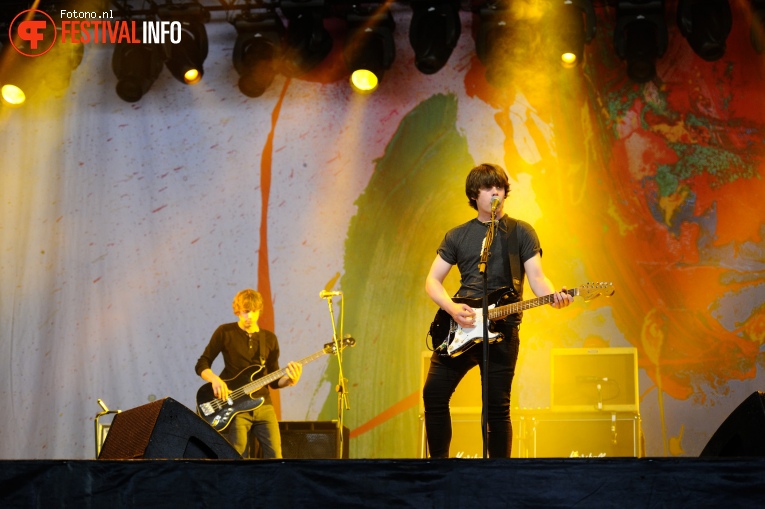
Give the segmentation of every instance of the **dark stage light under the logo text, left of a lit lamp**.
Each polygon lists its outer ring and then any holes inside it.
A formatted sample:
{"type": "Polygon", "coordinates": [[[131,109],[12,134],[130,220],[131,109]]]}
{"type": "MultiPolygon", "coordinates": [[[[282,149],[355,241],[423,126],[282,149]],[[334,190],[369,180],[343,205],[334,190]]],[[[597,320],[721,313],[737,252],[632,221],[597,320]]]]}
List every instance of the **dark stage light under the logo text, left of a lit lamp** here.
{"type": "Polygon", "coordinates": [[[161,44],[117,43],[112,55],[112,71],[117,77],[117,95],[136,102],[149,91],[167,60],[161,44]]]}

